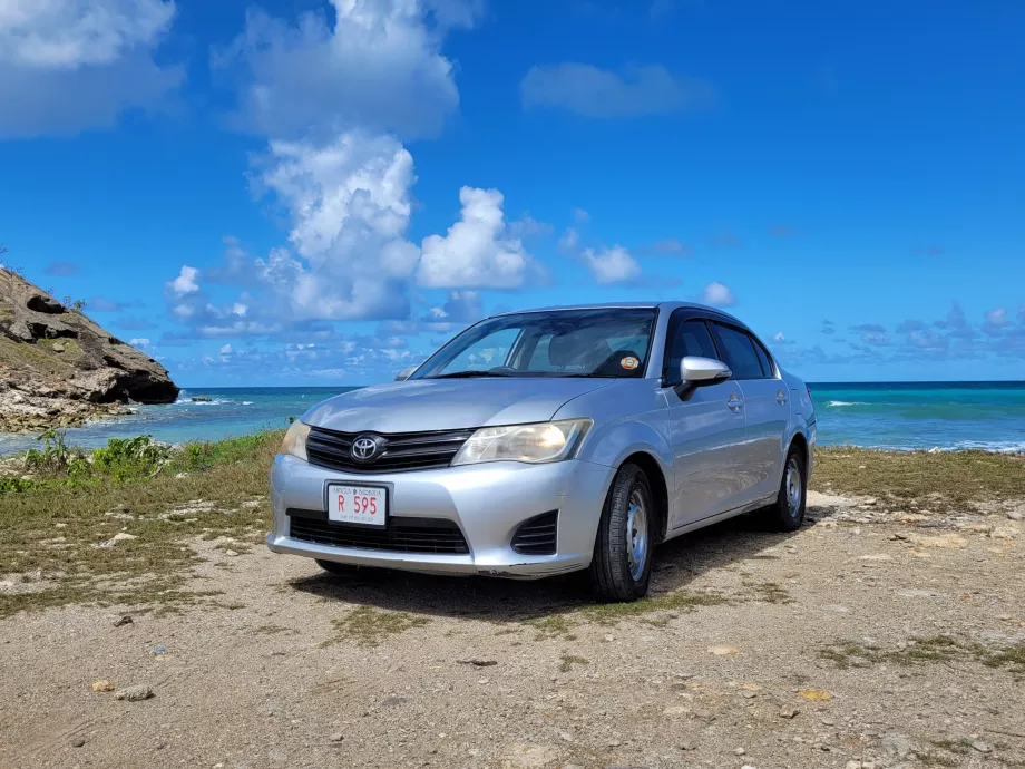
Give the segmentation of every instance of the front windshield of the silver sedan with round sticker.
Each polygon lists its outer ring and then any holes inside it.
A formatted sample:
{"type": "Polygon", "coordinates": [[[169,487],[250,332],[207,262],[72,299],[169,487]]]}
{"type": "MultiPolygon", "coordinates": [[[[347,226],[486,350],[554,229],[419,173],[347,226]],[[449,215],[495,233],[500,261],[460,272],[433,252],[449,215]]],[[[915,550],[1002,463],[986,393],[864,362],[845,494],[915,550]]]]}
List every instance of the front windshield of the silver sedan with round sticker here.
{"type": "Polygon", "coordinates": [[[643,377],[654,325],[653,309],[500,315],[456,337],[413,379],[643,377]]]}

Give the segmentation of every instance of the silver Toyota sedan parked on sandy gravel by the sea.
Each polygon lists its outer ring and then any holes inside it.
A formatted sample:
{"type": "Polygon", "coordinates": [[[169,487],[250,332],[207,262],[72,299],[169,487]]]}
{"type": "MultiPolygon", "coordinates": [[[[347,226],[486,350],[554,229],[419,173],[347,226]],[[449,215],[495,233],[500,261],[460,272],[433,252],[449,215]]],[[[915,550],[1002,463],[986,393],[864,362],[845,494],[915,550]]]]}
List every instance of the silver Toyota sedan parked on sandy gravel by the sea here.
{"type": "Polygon", "coordinates": [[[267,546],[332,573],[588,570],[633,601],[661,542],[753,510],[799,527],[814,442],[804,382],[718,310],[500,314],[296,420],[267,546]]]}

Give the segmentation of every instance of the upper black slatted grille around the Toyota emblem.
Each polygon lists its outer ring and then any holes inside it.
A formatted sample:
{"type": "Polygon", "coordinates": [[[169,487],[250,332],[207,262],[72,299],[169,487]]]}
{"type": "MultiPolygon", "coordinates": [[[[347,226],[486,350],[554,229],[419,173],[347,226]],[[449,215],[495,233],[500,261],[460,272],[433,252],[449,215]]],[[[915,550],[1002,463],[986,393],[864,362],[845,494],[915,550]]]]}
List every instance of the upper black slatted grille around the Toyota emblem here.
{"type": "Polygon", "coordinates": [[[349,473],[399,473],[448,467],[462,445],[476,430],[438,430],[435,432],[336,432],[311,427],[306,438],[306,457],[313,465],[349,473]],[[371,461],[352,458],[352,441],[361,436],[383,444],[371,461]]]}

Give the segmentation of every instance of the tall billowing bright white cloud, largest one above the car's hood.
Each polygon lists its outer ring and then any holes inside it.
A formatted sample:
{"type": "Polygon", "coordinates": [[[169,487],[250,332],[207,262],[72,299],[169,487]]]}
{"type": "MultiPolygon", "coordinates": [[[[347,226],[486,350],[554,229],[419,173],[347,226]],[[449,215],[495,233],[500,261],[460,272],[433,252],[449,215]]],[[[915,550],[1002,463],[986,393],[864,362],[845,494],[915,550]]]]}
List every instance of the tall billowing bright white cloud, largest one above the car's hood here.
{"type": "Polygon", "coordinates": [[[260,176],[289,212],[284,250],[257,260],[261,281],[296,318],[398,318],[419,257],[406,240],[412,156],[392,137],[348,133],[326,145],[272,142],[260,176]]]}

